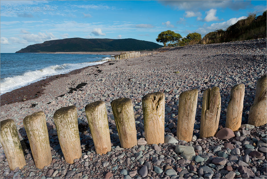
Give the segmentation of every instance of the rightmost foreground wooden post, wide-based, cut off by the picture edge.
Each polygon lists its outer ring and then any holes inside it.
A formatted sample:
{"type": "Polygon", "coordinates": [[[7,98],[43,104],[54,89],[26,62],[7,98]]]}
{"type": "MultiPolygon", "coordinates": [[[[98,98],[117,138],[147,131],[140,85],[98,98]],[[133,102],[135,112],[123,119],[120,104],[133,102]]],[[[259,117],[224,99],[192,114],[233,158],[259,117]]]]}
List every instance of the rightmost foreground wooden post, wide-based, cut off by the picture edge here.
{"type": "Polygon", "coordinates": [[[266,81],[267,76],[260,77],[256,85],[256,95],[253,105],[249,109],[248,124],[253,126],[262,126],[267,121],[267,95],[266,81]]]}

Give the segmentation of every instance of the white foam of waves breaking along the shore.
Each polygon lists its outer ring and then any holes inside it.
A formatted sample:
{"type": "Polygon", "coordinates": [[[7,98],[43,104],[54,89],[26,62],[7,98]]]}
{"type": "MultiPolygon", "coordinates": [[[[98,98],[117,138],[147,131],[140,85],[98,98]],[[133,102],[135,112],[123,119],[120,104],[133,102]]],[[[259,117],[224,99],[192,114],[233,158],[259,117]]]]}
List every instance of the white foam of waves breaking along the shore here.
{"type": "Polygon", "coordinates": [[[101,64],[104,62],[95,62],[95,63],[65,63],[62,65],[54,65],[48,66],[46,68],[34,71],[27,71],[23,75],[13,76],[4,78],[1,80],[0,92],[1,95],[12,91],[14,89],[20,88],[22,86],[26,86],[33,82],[37,82],[48,76],[56,75],[56,74],[64,74],[68,73],[72,70],[76,70],[79,68],[83,68],[86,66],[92,66],[96,64],[101,64]]]}

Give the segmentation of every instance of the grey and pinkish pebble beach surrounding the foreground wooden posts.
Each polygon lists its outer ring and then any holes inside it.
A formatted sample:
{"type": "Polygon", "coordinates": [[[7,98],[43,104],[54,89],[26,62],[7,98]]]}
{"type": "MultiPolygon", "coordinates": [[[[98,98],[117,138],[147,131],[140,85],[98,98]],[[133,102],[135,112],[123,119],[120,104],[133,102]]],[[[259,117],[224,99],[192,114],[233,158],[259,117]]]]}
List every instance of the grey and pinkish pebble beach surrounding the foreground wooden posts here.
{"type": "Polygon", "coordinates": [[[225,140],[199,139],[202,97],[206,88],[220,88],[219,129],[223,132],[230,90],[236,84],[245,84],[242,124],[247,124],[256,81],[266,75],[266,38],[167,50],[157,55],[90,66],[77,74],[52,80],[37,99],[1,105],[0,119],[11,118],[16,122],[27,164],[20,170],[10,171],[1,146],[1,178],[266,178],[266,125],[244,125],[238,132],[225,134],[231,137],[225,140]],[[188,143],[176,141],[177,119],[174,116],[178,115],[179,94],[194,88],[199,90],[194,136],[188,143]],[[159,146],[146,145],[140,140],[144,138],[141,99],[154,91],[165,93],[165,135],[174,137],[169,136],[171,141],[168,141],[172,143],[165,140],[159,146]],[[112,100],[120,97],[133,101],[140,145],[132,149],[120,148],[110,106],[112,100]],[[85,106],[98,100],[106,103],[112,143],[112,150],[105,155],[95,153],[85,115],[85,106]],[[77,107],[83,152],[73,164],[64,161],[53,120],[57,109],[69,105],[77,107]],[[46,115],[53,159],[43,169],[34,165],[22,124],[25,116],[38,111],[46,115]],[[176,153],[176,145],[193,147],[194,160],[176,153]]]}

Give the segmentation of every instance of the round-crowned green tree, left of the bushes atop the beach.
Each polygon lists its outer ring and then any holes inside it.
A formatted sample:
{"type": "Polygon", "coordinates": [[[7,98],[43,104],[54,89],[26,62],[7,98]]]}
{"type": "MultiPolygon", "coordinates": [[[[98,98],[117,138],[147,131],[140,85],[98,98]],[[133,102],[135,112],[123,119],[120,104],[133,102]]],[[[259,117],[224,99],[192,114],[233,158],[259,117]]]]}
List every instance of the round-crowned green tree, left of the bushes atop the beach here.
{"type": "Polygon", "coordinates": [[[171,30],[163,31],[158,35],[158,38],[156,39],[157,42],[163,43],[164,47],[166,47],[167,42],[175,42],[180,41],[180,38],[182,36],[178,33],[175,33],[171,30]]]}

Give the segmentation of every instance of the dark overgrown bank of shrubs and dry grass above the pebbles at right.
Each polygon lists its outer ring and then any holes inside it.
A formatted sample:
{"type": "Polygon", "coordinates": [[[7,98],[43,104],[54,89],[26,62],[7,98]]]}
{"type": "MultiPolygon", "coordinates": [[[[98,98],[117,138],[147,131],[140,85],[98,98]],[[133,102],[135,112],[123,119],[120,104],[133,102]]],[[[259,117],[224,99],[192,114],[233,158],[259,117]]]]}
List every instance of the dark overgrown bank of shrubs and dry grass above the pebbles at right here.
{"type": "Polygon", "coordinates": [[[249,14],[246,19],[229,26],[226,30],[210,32],[199,42],[200,44],[222,43],[230,41],[266,38],[266,11],[259,16],[249,14]]]}

